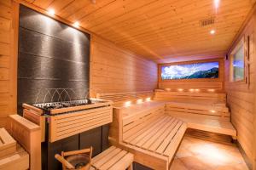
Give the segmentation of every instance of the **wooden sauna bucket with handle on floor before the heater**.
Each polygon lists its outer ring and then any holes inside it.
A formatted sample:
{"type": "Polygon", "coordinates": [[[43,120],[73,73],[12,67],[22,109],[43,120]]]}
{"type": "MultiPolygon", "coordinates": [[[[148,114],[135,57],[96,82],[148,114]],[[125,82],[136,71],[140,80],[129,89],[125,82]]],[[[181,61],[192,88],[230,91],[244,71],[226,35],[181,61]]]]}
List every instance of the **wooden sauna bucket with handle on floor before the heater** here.
{"type": "Polygon", "coordinates": [[[92,154],[92,147],[89,149],[84,149],[84,150],[74,150],[74,151],[68,151],[68,152],[61,152],[61,156],[59,154],[55,155],[55,158],[58,161],[61,161],[62,163],[62,169],[63,170],[68,170],[68,169],[79,169],[79,170],[89,170],[91,166],[91,154],[92,154]],[[87,160],[86,165],[84,167],[75,167],[76,163],[75,159],[79,159],[79,156],[85,157],[87,160]]]}

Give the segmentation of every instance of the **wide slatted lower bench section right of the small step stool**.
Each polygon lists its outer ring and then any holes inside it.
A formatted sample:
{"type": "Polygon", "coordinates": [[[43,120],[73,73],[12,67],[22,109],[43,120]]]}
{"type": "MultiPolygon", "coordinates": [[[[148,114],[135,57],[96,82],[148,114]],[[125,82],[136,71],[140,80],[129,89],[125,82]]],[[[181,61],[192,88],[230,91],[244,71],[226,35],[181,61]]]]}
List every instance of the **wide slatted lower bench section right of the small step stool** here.
{"type": "Polygon", "coordinates": [[[186,123],[172,116],[158,115],[154,121],[136,123],[130,127],[118,146],[133,153],[134,161],[153,169],[166,170],[186,129],[186,123]]]}

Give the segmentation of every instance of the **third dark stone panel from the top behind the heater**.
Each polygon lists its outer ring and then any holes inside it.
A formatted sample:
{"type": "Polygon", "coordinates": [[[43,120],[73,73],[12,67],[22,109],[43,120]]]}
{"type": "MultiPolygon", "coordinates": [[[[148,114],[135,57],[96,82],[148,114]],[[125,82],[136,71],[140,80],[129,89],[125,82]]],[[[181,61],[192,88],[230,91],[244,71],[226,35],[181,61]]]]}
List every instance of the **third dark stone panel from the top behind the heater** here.
{"type": "Polygon", "coordinates": [[[89,79],[88,63],[70,62],[55,58],[40,57],[20,53],[20,78],[44,78],[66,81],[84,81],[89,79]]]}

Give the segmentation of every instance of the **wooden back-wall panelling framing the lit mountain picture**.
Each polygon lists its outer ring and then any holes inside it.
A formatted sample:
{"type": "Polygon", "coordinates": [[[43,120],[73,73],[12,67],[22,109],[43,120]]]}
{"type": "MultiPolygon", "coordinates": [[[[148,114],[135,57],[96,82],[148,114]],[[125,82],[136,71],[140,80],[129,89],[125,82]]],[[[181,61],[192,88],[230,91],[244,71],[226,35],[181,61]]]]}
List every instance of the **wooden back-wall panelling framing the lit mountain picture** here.
{"type": "MultiPolygon", "coordinates": [[[[198,89],[216,89],[218,91],[224,90],[224,59],[204,59],[203,61],[219,61],[219,77],[216,79],[184,79],[184,80],[164,80],[160,78],[160,67],[159,67],[159,77],[158,77],[158,88],[198,88],[198,89]]],[[[200,61],[200,60],[199,60],[200,61]]],[[[196,62],[192,61],[191,63],[196,62]]],[[[178,62],[178,64],[190,63],[178,62]]]]}

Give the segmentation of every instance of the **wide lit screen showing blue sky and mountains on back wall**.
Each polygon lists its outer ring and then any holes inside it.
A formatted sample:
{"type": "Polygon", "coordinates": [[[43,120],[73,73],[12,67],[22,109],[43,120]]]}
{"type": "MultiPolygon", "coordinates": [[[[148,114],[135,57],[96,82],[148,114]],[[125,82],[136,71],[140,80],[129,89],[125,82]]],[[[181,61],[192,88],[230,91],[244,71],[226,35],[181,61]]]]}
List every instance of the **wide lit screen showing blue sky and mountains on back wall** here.
{"type": "Polygon", "coordinates": [[[218,62],[162,65],[162,80],[196,79],[196,78],[218,78],[218,62]]]}

